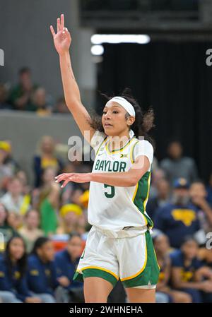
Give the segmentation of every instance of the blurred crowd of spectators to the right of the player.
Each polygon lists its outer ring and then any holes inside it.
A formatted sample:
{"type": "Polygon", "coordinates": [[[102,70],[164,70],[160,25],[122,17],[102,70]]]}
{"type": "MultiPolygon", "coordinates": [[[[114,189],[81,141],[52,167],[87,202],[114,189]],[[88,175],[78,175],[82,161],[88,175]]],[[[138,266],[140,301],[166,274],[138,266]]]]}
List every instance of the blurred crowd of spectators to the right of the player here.
{"type": "Polygon", "coordinates": [[[171,142],[146,205],[160,266],[158,302],[212,302],[211,189],[212,174],[206,186],[179,141],[171,142]]]}

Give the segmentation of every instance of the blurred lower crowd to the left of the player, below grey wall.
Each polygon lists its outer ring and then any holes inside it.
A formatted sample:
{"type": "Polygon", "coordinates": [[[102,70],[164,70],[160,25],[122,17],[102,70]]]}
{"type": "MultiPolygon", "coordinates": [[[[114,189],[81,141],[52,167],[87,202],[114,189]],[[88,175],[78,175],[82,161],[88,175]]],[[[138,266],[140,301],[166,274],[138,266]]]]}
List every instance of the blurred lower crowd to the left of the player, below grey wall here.
{"type": "Polygon", "coordinates": [[[90,229],[89,184],[63,190],[61,172],[90,172],[80,161],[64,162],[50,136],[33,157],[34,184],[0,141],[0,301],[83,301],[83,283],[73,274],[90,229]]]}

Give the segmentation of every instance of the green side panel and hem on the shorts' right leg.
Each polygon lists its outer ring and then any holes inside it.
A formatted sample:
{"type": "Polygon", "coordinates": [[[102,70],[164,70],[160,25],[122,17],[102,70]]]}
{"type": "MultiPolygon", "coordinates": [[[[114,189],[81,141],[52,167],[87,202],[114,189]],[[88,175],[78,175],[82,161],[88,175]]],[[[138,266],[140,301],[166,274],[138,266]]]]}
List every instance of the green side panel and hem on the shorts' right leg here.
{"type": "MultiPolygon", "coordinates": [[[[160,266],[158,265],[153,240],[150,232],[145,232],[146,237],[146,265],[142,272],[133,278],[125,277],[122,279],[124,287],[136,287],[146,285],[156,285],[160,274],[160,266]]],[[[137,255],[139,256],[139,254],[137,255]]]]}

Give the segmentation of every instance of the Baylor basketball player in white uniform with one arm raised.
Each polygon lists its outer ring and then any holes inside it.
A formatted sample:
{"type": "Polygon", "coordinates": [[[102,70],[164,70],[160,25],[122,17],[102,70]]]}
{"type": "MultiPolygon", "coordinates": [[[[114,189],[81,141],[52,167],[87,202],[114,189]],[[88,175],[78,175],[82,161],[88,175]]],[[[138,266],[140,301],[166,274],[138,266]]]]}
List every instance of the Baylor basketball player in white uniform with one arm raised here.
{"type": "Polygon", "coordinates": [[[67,107],[95,150],[91,173],[57,176],[57,182],[64,181],[61,187],[69,181],[90,182],[88,222],[93,227],[74,280],[84,281],[86,302],[107,302],[119,279],[130,302],[154,302],[160,268],[151,239],[153,222],[146,213],[153,146],[139,139],[148,138],[153,112],[143,115],[136,100],[124,92],[109,97],[101,121],[91,119],[73,76],[71,35],[63,14],[57,19],[57,33],[52,25],[50,29],[67,107]]]}

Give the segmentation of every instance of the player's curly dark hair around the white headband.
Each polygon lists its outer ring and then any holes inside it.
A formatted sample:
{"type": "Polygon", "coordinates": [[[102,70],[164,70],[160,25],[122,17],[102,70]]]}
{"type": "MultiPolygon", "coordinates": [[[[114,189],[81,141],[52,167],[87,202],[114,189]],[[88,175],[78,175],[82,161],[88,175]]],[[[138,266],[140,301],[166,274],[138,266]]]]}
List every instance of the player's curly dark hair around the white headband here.
{"type": "MultiPolygon", "coordinates": [[[[103,93],[101,93],[101,95],[105,97],[107,101],[114,97],[108,96],[103,93]]],[[[136,119],[134,123],[129,127],[129,129],[131,128],[134,131],[136,138],[139,138],[139,136],[143,136],[146,140],[151,142],[151,144],[155,148],[155,142],[153,138],[151,138],[151,136],[148,135],[148,131],[150,131],[151,128],[155,126],[153,123],[155,118],[153,109],[150,107],[147,112],[143,112],[143,110],[139,106],[139,102],[137,102],[137,100],[131,95],[131,90],[129,88],[125,88],[119,94],[119,96],[125,98],[128,102],[130,102],[136,112],[136,119]]],[[[125,118],[127,119],[128,116],[129,114],[126,113],[125,118]]],[[[95,130],[104,132],[104,127],[102,126],[102,118],[98,114],[90,114],[89,124],[95,130]]]]}

